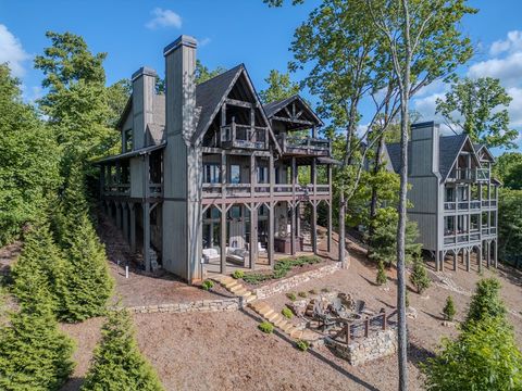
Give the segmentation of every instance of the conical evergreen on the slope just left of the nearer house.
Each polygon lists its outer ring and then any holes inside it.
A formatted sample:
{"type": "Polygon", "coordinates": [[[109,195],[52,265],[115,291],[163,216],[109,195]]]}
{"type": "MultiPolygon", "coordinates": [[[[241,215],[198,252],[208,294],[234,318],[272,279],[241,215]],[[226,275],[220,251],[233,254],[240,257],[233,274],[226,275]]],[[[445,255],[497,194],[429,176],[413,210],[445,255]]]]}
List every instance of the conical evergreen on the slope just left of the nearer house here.
{"type": "Polygon", "coordinates": [[[104,312],[112,294],[113,279],[105,261],[105,251],[91,222],[84,212],[67,234],[65,257],[70,262],[63,307],[60,317],[79,321],[104,312]]]}

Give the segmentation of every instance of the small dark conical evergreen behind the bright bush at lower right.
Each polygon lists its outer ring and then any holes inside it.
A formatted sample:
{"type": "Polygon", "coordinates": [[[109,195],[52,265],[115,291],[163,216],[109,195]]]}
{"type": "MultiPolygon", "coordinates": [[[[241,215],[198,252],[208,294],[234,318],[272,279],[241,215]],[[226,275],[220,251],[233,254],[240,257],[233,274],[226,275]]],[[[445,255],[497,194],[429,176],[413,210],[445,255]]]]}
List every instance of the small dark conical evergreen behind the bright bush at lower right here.
{"type": "Polygon", "coordinates": [[[476,283],[475,293],[471,298],[468,317],[462,327],[465,329],[474,321],[486,317],[505,318],[506,305],[500,299],[500,281],[496,278],[485,278],[476,283]]]}

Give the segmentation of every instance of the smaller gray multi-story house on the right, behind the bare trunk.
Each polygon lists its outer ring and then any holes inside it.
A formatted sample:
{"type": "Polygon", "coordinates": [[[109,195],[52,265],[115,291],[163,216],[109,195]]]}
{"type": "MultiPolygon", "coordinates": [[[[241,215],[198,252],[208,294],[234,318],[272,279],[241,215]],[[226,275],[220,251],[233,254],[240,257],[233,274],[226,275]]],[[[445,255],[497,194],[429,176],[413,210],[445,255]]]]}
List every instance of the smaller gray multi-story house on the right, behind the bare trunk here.
{"type": "MultiPolygon", "coordinates": [[[[443,270],[452,256],[453,269],[460,254],[470,269],[470,255],[497,266],[497,200],[499,182],[492,177],[495,162],[486,147],[473,144],[467,135],[442,136],[439,125],[427,122],[411,127],[408,211],[417,222],[420,242],[443,270]]],[[[390,168],[398,172],[398,143],[386,144],[390,168]]],[[[480,261],[478,261],[480,260],[480,261]]]]}

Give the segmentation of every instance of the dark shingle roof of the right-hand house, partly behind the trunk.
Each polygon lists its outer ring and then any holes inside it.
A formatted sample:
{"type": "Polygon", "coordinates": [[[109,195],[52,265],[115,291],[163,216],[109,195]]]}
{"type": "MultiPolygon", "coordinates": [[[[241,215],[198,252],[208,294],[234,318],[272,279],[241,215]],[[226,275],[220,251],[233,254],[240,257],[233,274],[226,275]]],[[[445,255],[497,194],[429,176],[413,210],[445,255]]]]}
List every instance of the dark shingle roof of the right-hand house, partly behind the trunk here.
{"type": "MultiPolygon", "coordinates": [[[[467,135],[442,136],[439,138],[438,172],[443,179],[446,179],[451,171],[455,160],[467,139],[467,135]]],[[[398,142],[387,143],[386,149],[389,160],[391,161],[391,166],[394,171],[398,173],[400,168],[400,144],[398,142]]],[[[411,141],[408,143],[408,155],[411,156],[411,141]]],[[[411,159],[409,163],[411,163],[411,159]]]]}

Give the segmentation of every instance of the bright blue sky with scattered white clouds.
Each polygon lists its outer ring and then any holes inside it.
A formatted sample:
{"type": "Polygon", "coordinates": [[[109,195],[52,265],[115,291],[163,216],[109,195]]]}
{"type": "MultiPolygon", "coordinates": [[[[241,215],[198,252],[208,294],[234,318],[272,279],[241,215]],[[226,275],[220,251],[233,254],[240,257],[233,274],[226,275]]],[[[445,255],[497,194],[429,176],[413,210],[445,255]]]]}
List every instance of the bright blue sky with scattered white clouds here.
{"type": "MultiPolygon", "coordinates": [[[[23,81],[25,98],[34,100],[41,94],[42,75],[33,70],[32,59],[48,46],[46,30],[82,35],[92,51],[108,52],[109,84],[142,65],[162,74],[163,48],[187,34],[199,40],[198,58],[207,66],[245,63],[259,91],[270,70],[286,70],[294,30],[318,3],[307,0],[300,7],[270,9],[262,0],[0,0],[0,62],[10,62],[23,81]]],[[[522,129],[522,2],[471,4],[481,11],[468,16],[462,29],[477,54],[459,73],[500,78],[513,97],[512,126],[522,129]]],[[[415,98],[413,108],[423,119],[440,119],[434,116],[434,102],[446,90],[436,83],[415,98]]]]}

